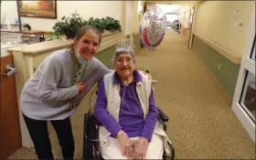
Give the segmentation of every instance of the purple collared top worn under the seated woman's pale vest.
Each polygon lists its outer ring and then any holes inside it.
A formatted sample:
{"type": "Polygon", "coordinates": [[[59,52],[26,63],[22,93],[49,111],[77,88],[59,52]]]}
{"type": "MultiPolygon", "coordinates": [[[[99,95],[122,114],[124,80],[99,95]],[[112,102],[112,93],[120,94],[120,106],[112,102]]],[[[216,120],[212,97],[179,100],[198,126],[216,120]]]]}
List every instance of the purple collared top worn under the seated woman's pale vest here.
{"type": "Polygon", "coordinates": [[[94,107],[94,115],[102,125],[116,137],[118,132],[123,131],[129,137],[144,136],[151,141],[158,117],[158,110],[155,105],[153,89],[149,97],[149,110],[144,120],[144,113],[136,93],[136,82],[142,81],[142,75],[138,71],[133,72],[133,82],[125,86],[125,95],[123,98],[124,85],[120,76],[115,72],[113,83],[120,84],[121,106],[119,113],[119,123],[115,121],[112,115],[107,111],[107,98],[105,95],[104,81],[101,80],[98,86],[98,97],[94,107]],[[124,103],[123,103],[124,102],[124,103]],[[123,108],[123,109],[122,109],[123,108]]]}

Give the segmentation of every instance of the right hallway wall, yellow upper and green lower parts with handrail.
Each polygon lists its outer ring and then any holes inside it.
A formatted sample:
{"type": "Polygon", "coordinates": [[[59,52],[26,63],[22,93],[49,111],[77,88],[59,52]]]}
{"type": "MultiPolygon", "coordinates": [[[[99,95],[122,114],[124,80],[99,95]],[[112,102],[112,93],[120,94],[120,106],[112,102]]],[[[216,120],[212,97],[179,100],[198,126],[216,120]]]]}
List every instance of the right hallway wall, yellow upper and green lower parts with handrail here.
{"type": "Polygon", "coordinates": [[[206,1],[197,5],[192,49],[216,76],[229,99],[234,94],[251,16],[255,16],[254,6],[253,1],[206,1]],[[234,12],[238,9],[241,29],[234,26],[234,12]]]}

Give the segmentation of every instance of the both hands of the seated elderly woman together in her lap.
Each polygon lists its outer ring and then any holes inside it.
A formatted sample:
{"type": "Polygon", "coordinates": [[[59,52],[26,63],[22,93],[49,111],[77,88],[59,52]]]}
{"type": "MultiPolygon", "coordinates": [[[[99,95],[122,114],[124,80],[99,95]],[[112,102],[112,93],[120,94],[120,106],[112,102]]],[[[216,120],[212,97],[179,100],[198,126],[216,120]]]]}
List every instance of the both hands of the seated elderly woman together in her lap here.
{"type": "Polygon", "coordinates": [[[148,140],[144,136],[131,140],[129,136],[121,130],[117,139],[121,147],[121,153],[129,159],[143,159],[149,145],[148,140]]]}

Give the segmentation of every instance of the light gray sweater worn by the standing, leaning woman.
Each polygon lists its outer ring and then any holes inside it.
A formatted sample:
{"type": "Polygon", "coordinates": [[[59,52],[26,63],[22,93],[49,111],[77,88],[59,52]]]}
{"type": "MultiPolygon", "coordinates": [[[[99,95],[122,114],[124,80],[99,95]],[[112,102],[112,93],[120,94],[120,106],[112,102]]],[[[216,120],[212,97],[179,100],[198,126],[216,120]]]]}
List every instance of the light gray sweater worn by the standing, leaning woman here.
{"type": "Polygon", "coordinates": [[[92,57],[81,79],[87,84],[79,93],[73,85],[73,61],[69,49],[48,55],[24,85],[20,105],[24,115],[37,120],[60,120],[72,115],[76,106],[103,75],[112,72],[92,57]]]}

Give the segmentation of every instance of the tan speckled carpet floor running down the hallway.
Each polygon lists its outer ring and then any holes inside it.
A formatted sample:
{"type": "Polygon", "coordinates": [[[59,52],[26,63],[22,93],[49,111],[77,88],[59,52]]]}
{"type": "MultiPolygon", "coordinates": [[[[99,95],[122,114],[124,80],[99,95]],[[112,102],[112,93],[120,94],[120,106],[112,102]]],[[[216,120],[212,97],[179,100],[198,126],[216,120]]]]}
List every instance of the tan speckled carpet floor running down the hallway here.
{"type": "MultiPolygon", "coordinates": [[[[176,148],[176,159],[255,159],[255,145],[225,102],[196,53],[187,49],[182,35],[167,30],[154,52],[137,53],[137,68],[150,69],[157,105],[169,116],[167,135],[176,148]]],[[[85,97],[72,115],[75,158],[82,157],[85,97]]],[[[95,98],[95,96],[94,96],[95,98]]],[[[62,158],[57,135],[50,133],[53,154],[62,158]]],[[[35,159],[31,148],[21,148],[9,159],[35,159]]]]}

